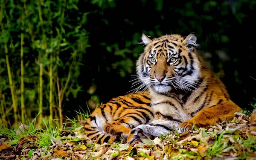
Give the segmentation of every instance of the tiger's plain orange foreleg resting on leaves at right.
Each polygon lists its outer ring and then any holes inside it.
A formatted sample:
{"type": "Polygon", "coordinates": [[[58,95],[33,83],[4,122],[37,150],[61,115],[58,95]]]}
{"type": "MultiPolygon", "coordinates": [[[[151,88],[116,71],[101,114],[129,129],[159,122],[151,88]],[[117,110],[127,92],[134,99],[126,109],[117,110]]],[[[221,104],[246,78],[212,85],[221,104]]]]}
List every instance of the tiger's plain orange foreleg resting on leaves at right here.
{"type": "Polygon", "coordinates": [[[193,123],[196,127],[207,127],[215,125],[219,120],[230,121],[233,119],[234,113],[240,111],[235,103],[231,101],[221,102],[198,112],[192,119],[186,120],[178,127],[178,132],[192,131],[193,123]]]}

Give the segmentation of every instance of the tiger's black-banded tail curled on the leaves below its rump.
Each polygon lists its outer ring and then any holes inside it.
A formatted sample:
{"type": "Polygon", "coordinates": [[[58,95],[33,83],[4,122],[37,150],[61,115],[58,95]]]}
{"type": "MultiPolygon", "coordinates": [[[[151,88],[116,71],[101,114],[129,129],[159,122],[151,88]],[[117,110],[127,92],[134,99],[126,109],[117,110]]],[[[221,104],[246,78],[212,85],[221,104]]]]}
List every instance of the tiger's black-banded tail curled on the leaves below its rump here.
{"type": "Polygon", "coordinates": [[[116,137],[112,137],[110,134],[105,133],[102,128],[106,122],[97,116],[90,116],[86,121],[80,122],[84,126],[84,134],[90,138],[90,140],[95,140],[95,143],[113,143],[116,137]]]}

